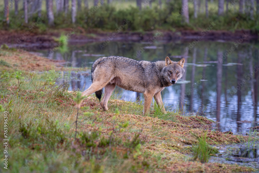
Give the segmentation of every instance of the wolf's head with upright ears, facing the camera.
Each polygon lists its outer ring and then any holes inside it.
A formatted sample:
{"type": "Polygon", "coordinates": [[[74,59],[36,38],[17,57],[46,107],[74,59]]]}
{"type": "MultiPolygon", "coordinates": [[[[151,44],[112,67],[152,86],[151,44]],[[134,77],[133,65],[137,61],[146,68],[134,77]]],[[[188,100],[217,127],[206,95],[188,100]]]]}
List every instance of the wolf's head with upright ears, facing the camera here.
{"type": "Polygon", "coordinates": [[[176,84],[178,79],[181,79],[184,73],[183,69],[184,58],[178,62],[171,61],[166,57],[166,66],[163,68],[163,76],[168,83],[176,84]]]}

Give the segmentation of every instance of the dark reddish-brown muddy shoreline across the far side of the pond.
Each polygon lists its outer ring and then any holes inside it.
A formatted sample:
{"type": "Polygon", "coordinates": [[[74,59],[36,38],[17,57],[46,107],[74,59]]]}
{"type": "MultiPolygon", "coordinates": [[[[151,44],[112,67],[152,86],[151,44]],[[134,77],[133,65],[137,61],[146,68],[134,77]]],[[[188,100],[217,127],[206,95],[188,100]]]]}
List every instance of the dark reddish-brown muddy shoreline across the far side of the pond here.
{"type": "Polygon", "coordinates": [[[238,41],[251,42],[258,40],[258,33],[251,30],[231,31],[149,31],[149,32],[85,32],[77,28],[75,34],[70,34],[69,29],[62,31],[48,32],[45,34],[30,33],[27,31],[4,31],[0,30],[0,44],[7,44],[9,47],[24,49],[49,49],[58,46],[57,38],[63,33],[68,38],[69,44],[85,44],[89,42],[150,42],[161,41],[169,43],[172,41],[238,41]]]}

